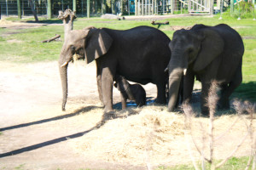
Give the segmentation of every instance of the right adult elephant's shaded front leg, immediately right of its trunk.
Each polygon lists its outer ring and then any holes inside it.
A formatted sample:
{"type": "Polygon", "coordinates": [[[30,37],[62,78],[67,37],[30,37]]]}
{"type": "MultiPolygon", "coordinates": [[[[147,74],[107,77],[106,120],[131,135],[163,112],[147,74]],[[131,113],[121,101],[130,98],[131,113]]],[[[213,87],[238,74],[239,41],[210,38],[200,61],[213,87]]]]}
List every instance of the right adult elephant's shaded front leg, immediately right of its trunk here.
{"type": "Polygon", "coordinates": [[[187,71],[183,77],[183,103],[190,103],[194,88],[195,74],[192,71],[187,71]]]}

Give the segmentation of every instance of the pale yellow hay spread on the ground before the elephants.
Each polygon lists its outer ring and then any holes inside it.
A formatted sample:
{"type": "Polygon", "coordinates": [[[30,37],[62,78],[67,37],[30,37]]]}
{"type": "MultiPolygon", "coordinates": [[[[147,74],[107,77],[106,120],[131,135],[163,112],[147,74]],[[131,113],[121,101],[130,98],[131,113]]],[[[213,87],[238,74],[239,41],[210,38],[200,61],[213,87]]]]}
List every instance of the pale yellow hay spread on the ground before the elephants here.
{"type": "MultiPolygon", "coordinates": [[[[245,125],[245,122],[249,121],[247,117],[246,115],[241,118],[237,118],[236,115],[216,117],[214,135],[221,138],[214,143],[215,159],[223,159],[230,154],[232,148],[236,147],[247,132],[245,125]],[[236,125],[230,128],[233,122],[236,122],[236,125]],[[229,128],[230,131],[226,132],[229,128]]],[[[195,142],[201,144],[201,127],[208,128],[208,118],[195,117],[193,121],[192,133],[195,142]]],[[[151,105],[143,109],[130,108],[115,115],[108,115],[107,122],[101,127],[86,133],[71,144],[77,152],[99,160],[125,162],[131,165],[146,166],[149,162],[153,166],[170,166],[190,162],[189,150],[184,138],[183,114],[167,112],[165,106],[151,105]]],[[[195,159],[200,160],[193,146],[192,152],[195,159]]],[[[246,139],[234,156],[249,154],[250,144],[249,139],[246,139]]]]}

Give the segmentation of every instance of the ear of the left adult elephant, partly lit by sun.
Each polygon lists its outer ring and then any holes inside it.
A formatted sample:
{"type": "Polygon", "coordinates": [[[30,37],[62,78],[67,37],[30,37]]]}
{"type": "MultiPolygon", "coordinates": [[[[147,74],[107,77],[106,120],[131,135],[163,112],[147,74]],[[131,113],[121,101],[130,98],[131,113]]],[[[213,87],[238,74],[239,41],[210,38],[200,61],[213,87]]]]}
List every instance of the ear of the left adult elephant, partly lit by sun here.
{"type": "Polygon", "coordinates": [[[106,54],[113,42],[112,37],[106,31],[94,27],[90,28],[85,39],[84,55],[87,64],[106,54]]]}

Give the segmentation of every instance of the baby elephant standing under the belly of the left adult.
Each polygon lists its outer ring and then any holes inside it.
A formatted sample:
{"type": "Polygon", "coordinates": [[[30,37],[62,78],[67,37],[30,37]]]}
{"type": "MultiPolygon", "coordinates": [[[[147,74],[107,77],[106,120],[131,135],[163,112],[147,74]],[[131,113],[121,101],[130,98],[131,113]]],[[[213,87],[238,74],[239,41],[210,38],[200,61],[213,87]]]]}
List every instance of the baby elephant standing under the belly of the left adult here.
{"type": "Polygon", "coordinates": [[[126,100],[135,100],[137,106],[146,105],[146,92],[140,84],[130,84],[125,77],[117,76],[113,84],[121,94],[122,109],[126,108],[126,100]]]}

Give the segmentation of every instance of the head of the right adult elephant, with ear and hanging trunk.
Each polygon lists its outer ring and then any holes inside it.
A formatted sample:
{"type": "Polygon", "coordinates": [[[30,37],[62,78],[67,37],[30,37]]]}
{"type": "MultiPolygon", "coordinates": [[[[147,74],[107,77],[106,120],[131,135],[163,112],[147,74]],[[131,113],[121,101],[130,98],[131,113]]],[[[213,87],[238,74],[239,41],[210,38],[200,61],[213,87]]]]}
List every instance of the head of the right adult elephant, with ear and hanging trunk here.
{"type": "MultiPolygon", "coordinates": [[[[207,68],[224,48],[224,42],[216,31],[210,29],[197,29],[174,32],[169,48],[172,57],[168,64],[169,71],[169,102],[168,111],[173,111],[179,91],[181,79],[193,71],[199,73],[207,68]]],[[[193,85],[192,85],[193,86],[193,85]]],[[[183,88],[186,88],[184,84],[183,88]]]]}

